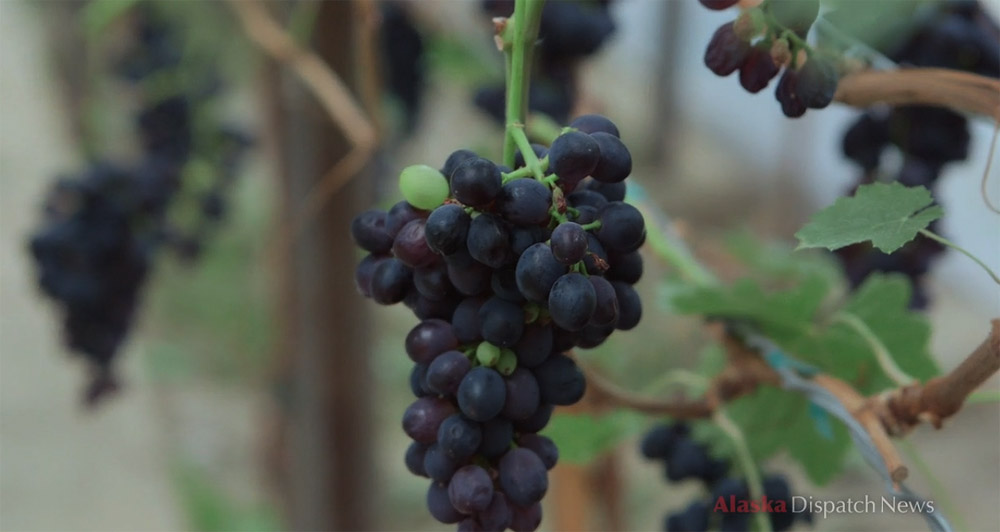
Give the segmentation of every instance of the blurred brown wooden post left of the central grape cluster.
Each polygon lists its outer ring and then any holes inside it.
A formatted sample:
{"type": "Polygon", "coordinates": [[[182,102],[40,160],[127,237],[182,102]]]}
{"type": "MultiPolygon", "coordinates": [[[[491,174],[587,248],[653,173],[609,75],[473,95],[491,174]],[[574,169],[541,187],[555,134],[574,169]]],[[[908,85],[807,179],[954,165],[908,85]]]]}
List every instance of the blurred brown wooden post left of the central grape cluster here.
{"type": "MultiPolygon", "coordinates": [[[[358,4],[323,2],[313,49],[351,87],[360,76],[353,35],[358,4]]],[[[299,80],[284,72],[276,123],[284,173],[282,226],[301,212],[316,182],[350,146],[299,80]]],[[[373,441],[368,317],[354,287],[356,252],[350,222],[369,201],[370,187],[353,179],[311,219],[281,267],[279,308],[287,386],[285,415],[276,441],[289,526],[293,530],[370,530],[373,441]]]]}

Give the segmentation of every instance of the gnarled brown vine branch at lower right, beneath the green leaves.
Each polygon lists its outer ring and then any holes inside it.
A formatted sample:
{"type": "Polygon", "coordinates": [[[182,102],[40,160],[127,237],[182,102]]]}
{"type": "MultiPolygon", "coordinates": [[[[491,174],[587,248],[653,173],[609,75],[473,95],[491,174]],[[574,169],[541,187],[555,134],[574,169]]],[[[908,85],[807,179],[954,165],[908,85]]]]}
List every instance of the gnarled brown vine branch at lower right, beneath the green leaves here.
{"type": "MultiPolygon", "coordinates": [[[[990,335],[961,364],[925,384],[865,397],[836,377],[817,374],[811,379],[836,397],[865,428],[890,477],[901,482],[908,471],[890,437],[903,436],[922,422],[940,428],[945,418],[961,409],[970,393],[1000,371],[1000,319],[992,320],[991,325],[990,335]]],[[[584,367],[587,395],[598,409],[619,407],[676,419],[704,419],[711,417],[720,405],[751,393],[760,385],[781,385],[781,376],[756,351],[720,328],[714,329],[714,334],[725,346],[729,363],[710,381],[701,397],[645,397],[622,389],[593,368],[584,367]]]]}

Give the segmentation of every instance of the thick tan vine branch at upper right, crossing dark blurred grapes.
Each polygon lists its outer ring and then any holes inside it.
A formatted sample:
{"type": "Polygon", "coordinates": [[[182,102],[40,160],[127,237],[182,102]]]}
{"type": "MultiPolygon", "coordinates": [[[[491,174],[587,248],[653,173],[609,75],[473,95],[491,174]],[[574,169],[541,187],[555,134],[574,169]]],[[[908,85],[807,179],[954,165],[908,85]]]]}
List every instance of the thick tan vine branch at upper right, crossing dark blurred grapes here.
{"type": "Polygon", "coordinates": [[[844,76],[834,99],[853,107],[877,103],[935,105],[1000,122],[1000,80],[944,68],[864,70],[844,76]]]}

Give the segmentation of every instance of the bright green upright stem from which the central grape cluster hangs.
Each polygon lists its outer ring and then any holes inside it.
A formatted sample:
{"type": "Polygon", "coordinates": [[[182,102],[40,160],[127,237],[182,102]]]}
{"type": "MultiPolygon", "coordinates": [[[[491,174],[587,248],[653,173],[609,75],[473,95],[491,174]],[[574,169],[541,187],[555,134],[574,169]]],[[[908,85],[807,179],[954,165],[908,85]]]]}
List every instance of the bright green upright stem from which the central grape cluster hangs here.
{"type": "MultiPolygon", "coordinates": [[[[531,51],[535,46],[535,39],[538,38],[538,27],[541,25],[544,5],[545,0],[515,0],[513,27],[508,19],[501,35],[508,64],[505,120],[507,130],[503,143],[503,162],[507,166],[514,165],[514,152],[517,146],[515,131],[524,134],[524,123],[528,114],[528,88],[531,82],[531,51]]],[[[527,151],[534,153],[530,145],[527,151]]],[[[525,153],[524,156],[527,161],[528,154],[525,153]]]]}

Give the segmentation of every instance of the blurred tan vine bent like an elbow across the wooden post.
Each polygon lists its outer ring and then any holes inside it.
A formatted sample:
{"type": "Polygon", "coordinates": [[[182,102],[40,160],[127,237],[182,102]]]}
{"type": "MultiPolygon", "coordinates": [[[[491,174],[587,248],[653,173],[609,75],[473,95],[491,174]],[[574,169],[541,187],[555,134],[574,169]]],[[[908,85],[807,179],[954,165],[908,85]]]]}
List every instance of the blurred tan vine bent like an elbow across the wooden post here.
{"type": "Polygon", "coordinates": [[[319,56],[299,46],[259,0],[228,0],[228,4],[250,41],[298,76],[352,146],[306,196],[293,223],[295,235],[364,168],[375,152],[378,133],[343,80],[319,56]]]}

